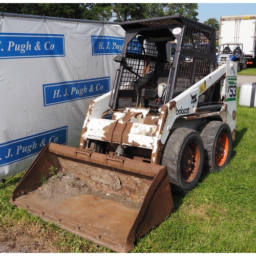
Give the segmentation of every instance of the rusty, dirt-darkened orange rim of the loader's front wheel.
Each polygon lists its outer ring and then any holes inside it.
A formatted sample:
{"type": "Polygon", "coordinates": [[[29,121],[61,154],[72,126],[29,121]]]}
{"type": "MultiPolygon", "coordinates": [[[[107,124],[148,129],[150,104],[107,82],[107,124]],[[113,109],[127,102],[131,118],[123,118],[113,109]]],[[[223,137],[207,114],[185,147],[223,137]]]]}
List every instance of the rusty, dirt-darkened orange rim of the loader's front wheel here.
{"type": "Polygon", "coordinates": [[[195,179],[199,169],[200,153],[197,143],[190,143],[182,156],[182,176],[183,179],[189,183],[195,179]]]}

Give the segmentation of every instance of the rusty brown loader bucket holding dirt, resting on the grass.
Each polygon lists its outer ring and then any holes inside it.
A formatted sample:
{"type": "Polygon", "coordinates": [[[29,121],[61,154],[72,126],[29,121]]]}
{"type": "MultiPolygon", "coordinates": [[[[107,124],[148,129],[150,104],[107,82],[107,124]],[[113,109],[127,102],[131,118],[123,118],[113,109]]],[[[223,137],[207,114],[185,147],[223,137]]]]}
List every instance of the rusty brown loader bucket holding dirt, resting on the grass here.
{"type": "Polygon", "coordinates": [[[55,143],[46,145],[10,202],[117,252],[173,210],[166,167],[55,143]]]}

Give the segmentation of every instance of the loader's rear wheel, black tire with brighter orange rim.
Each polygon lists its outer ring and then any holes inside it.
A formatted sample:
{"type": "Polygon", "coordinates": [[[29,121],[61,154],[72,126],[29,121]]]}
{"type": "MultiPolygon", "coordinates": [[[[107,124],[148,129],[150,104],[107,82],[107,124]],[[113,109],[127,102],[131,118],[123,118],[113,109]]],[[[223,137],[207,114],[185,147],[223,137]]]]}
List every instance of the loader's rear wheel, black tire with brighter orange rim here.
{"type": "Polygon", "coordinates": [[[228,165],[232,154],[232,135],[228,124],[222,121],[206,122],[198,132],[204,143],[205,172],[220,172],[228,165]]]}

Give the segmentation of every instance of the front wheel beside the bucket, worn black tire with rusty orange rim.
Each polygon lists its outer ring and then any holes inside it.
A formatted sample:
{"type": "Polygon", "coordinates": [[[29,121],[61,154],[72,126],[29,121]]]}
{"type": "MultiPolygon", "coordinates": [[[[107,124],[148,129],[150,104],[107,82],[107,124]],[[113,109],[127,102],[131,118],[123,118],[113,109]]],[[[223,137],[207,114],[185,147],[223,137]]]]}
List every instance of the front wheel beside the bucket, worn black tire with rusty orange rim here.
{"type": "Polygon", "coordinates": [[[169,136],[163,153],[170,187],[174,193],[188,193],[199,182],[204,162],[203,142],[198,132],[177,128],[169,136]]]}

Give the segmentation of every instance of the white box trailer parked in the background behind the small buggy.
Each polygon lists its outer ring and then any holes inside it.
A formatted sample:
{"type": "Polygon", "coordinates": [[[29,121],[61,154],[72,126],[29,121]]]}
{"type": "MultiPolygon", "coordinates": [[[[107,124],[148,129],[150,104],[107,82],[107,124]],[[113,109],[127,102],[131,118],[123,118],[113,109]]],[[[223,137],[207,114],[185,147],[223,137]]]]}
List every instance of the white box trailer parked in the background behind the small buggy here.
{"type": "Polygon", "coordinates": [[[227,42],[242,43],[248,64],[256,63],[256,14],[221,16],[219,46],[227,42]]]}

